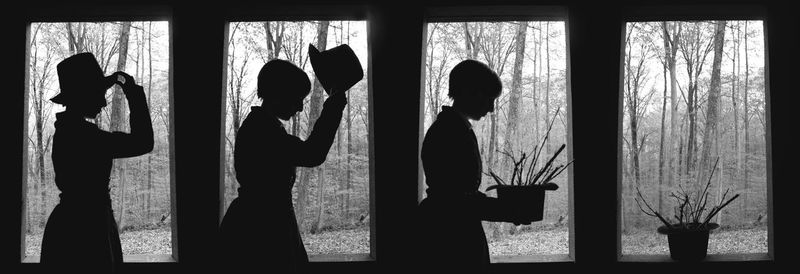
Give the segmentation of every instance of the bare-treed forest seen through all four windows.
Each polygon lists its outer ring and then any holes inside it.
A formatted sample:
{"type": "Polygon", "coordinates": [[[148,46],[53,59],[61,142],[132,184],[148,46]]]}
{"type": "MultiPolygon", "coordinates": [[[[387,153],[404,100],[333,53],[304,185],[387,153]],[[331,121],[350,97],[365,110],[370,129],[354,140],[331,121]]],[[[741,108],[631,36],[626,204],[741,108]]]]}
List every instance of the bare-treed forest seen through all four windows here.
{"type": "MultiPolygon", "coordinates": [[[[256,77],[267,61],[289,60],[313,81],[303,112],[284,127],[305,139],[319,116],[325,93],[308,60],[309,44],[320,50],[349,44],[365,79],[348,91],[334,145],[325,163],[300,168],[293,189],[296,215],[309,254],[370,250],[370,151],[367,29],[364,21],[230,22],[225,83],[224,209],[237,196],[233,148],[256,95],[256,77]]],[[[486,63],[500,76],[503,92],[495,111],[473,121],[484,171],[509,176],[510,158],[541,142],[546,159],[562,144],[570,150],[568,54],[561,21],[429,23],[423,41],[424,129],[447,97],[450,69],[464,59],[486,63]]],[[[766,250],[767,117],[764,31],[761,21],[632,22],[626,25],[620,60],[621,228],[623,254],[666,253],[658,221],[634,201],[641,189],[650,204],[671,212],[669,193],[696,189],[715,159],[711,199],[730,189],[741,198],[717,215],[711,253],[766,250]]],[[[29,32],[26,121],[26,254],[38,255],[47,217],[58,203],[51,162],[58,91],[55,66],[92,52],[106,75],[126,71],[144,87],[155,131],[152,153],[116,160],[110,191],[125,254],[171,254],[170,49],[167,22],[33,23],[29,32]]],[[[126,131],[127,106],[119,89],[94,122],[126,131]]],[[[612,106],[609,106],[612,107],[612,106]]],[[[557,161],[572,159],[562,153],[557,161]]],[[[611,160],[611,159],[609,159],[611,160]]],[[[582,163],[575,159],[575,164],[582,163]]],[[[532,225],[484,223],[493,255],[569,252],[569,177],[554,180],[545,218],[532,225]]],[[[704,179],[705,178],[705,179],[704,179]]],[[[613,182],[606,182],[609,186],[613,182]]],[[[494,184],[484,176],[481,190],[494,184]]],[[[421,186],[424,197],[424,182],[421,186]]],[[[488,191],[488,195],[495,195],[488,191]]]]}

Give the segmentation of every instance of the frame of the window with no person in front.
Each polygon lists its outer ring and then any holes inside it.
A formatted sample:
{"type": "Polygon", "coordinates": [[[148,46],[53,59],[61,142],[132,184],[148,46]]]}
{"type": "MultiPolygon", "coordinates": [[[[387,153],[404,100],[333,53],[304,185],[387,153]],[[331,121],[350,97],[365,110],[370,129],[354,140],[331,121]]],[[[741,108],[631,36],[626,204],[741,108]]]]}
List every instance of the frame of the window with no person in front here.
{"type": "Polygon", "coordinates": [[[772,170],[772,113],[770,100],[770,69],[769,69],[769,34],[767,8],[762,5],[740,4],[740,5],[629,5],[623,7],[620,21],[620,59],[619,59],[619,87],[618,87],[618,108],[617,108],[617,182],[616,182],[616,243],[617,261],[623,263],[675,263],[668,254],[622,254],[622,212],[621,201],[623,199],[623,152],[622,139],[623,115],[624,115],[624,62],[625,62],[625,31],[627,24],[632,22],[653,22],[653,21],[705,21],[705,20],[754,20],[761,21],[764,30],[764,119],[766,122],[765,145],[766,145],[766,205],[767,205],[767,253],[747,253],[747,254],[709,254],[705,262],[772,262],[775,260],[775,233],[773,224],[773,170],[772,170]]]}

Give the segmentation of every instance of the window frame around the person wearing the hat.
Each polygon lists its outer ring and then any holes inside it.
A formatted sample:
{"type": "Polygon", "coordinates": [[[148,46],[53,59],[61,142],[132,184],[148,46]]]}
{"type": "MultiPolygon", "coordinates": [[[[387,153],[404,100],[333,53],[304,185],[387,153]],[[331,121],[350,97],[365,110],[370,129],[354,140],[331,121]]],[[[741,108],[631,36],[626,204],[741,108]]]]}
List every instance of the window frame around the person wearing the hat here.
{"type": "MultiPolygon", "coordinates": [[[[64,22],[113,22],[113,21],[159,21],[168,24],[169,34],[169,73],[167,79],[169,81],[168,87],[168,100],[169,100],[169,131],[175,132],[175,111],[174,111],[174,79],[173,79],[173,22],[172,22],[172,9],[164,5],[133,5],[133,4],[75,4],[70,6],[55,5],[50,7],[42,7],[41,9],[32,10],[25,16],[25,88],[24,88],[24,114],[23,119],[28,117],[29,94],[30,90],[30,32],[31,24],[33,23],[64,23],[64,22]]],[[[28,121],[23,122],[23,137],[27,136],[28,121]]],[[[170,199],[170,215],[172,221],[170,222],[171,228],[171,245],[172,254],[135,254],[123,255],[123,262],[125,264],[141,264],[141,263],[157,263],[161,264],[175,264],[178,262],[178,222],[177,222],[177,198],[176,198],[176,174],[175,174],[175,134],[168,135],[169,141],[169,199],[170,199]]],[[[26,142],[27,146],[27,142],[26,142]]],[[[29,159],[28,149],[24,148],[23,159],[29,159]]],[[[28,176],[25,170],[28,167],[28,161],[23,161],[23,175],[22,175],[22,197],[21,197],[21,238],[20,238],[20,262],[22,264],[38,264],[40,256],[27,256],[26,252],[26,239],[25,239],[25,226],[27,220],[25,214],[27,211],[27,186],[28,176]]]]}

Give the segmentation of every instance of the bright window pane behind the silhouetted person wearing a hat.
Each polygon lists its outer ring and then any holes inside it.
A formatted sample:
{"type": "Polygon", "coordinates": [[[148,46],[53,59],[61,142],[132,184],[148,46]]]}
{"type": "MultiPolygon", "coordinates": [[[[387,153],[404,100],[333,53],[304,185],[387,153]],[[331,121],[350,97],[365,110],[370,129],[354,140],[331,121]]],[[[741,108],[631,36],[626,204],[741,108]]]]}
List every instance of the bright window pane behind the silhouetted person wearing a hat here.
{"type": "MultiPolygon", "coordinates": [[[[60,90],[56,65],[82,52],[95,55],[104,75],[122,70],[133,76],[144,88],[153,121],[153,151],[116,159],[111,171],[111,203],[122,253],[171,255],[168,22],[32,23],[29,49],[25,255],[39,256],[47,218],[59,203],[51,152],[55,115],[65,108],[50,101],[60,90]]],[[[113,98],[121,92],[106,93],[108,106],[93,121],[100,129],[128,132],[127,102],[113,98]],[[122,115],[112,115],[116,104],[122,115]]]]}

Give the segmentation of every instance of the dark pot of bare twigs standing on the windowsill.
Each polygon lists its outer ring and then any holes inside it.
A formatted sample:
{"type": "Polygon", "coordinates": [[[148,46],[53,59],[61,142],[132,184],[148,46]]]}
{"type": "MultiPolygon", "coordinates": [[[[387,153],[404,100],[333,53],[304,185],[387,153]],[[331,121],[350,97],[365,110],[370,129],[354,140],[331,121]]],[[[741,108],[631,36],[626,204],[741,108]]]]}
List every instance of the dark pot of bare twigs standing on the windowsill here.
{"type": "Polygon", "coordinates": [[[708,253],[708,235],[712,230],[719,227],[718,224],[712,223],[711,219],[739,197],[739,194],[736,194],[726,200],[730,191],[728,189],[716,205],[710,209],[707,208],[709,206],[708,189],[711,186],[711,178],[714,176],[714,170],[717,169],[718,162],[719,158],[714,162],[714,167],[702,191],[690,193],[683,186],[679,186],[677,191],[673,191],[670,194],[670,197],[676,201],[674,220],[664,217],[662,213],[654,210],[642,195],[639,187],[636,187],[636,205],[639,206],[639,209],[644,214],[656,217],[661,221],[663,225],[658,227],[657,231],[660,234],[667,235],[669,255],[673,260],[703,260],[708,253]]]}

